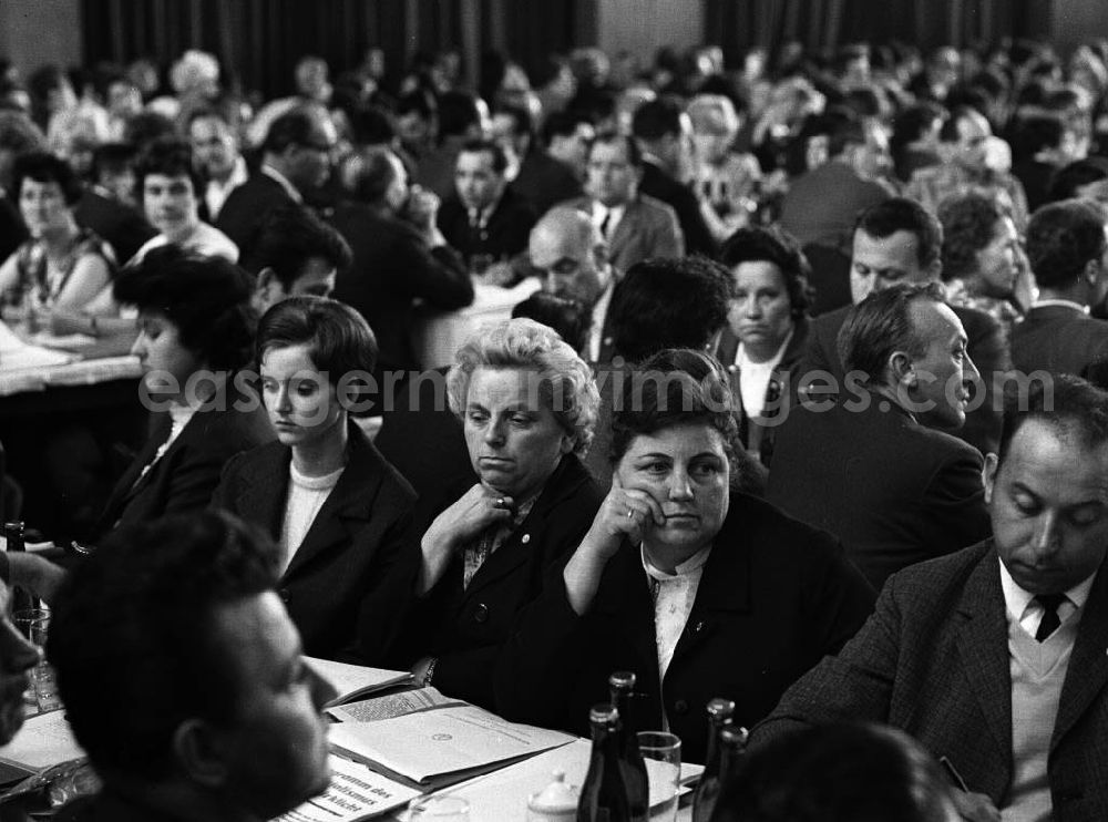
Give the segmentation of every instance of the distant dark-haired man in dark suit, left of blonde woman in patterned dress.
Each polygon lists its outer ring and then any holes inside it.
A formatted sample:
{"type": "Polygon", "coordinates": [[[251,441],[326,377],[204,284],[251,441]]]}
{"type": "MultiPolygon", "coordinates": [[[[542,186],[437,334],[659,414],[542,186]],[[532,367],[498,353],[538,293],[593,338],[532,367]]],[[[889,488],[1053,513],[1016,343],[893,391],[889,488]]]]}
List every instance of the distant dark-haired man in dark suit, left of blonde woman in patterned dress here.
{"type": "Polygon", "coordinates": [[[687,161],[691,123],[676,103],[655,100],[639,106],[632,133],[643,145],[643,182],[639,191],[669,205],[677,214],[688,254],[716,255],[716,240],[700,212],[693,189],[676,174],[687,161]]]}

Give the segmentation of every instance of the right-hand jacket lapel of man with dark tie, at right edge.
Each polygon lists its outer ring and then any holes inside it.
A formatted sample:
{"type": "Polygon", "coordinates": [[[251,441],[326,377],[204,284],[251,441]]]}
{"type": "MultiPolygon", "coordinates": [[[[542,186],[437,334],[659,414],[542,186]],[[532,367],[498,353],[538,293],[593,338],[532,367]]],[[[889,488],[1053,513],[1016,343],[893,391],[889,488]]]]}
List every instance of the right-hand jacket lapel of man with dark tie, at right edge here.
{"type": "Polygon", "coordinates": [[[1061,701],[1054,723],[1051,750],[1077,723],[1089,705],[1108,685],[1108,573],[1101,565],[1086,612],[1077,629],[1077,640],[1061,686],[1061,701]]]}

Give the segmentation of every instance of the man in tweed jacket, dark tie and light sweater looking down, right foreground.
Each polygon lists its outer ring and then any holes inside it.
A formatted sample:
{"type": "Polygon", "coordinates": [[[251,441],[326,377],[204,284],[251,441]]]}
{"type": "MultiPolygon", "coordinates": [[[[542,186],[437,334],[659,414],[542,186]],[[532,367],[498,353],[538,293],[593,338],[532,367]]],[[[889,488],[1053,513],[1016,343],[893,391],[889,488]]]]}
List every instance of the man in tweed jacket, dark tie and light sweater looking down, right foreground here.
{"type": "Polygon", "coordinates": [[[1025,399],[986,465],[995,537],[893,576],[755,746],[798,722],[888,722],[953,763],[967,819],[1108,818],[1108,395],[1059,378],[1025,399]]]}

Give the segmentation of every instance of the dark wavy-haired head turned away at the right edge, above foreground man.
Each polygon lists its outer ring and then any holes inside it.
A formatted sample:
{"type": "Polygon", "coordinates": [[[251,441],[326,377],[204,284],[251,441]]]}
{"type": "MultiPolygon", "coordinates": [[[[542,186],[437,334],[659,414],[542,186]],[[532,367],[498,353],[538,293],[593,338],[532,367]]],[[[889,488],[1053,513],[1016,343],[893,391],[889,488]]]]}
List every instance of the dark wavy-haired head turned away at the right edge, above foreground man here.
{"type": "Polygon", "coordinates": [[[1108,290],[1104,207],[1067,199],[1036,210],[1027,224],[1027,259],[1043,298],[1100,302],[1108,290]]]}

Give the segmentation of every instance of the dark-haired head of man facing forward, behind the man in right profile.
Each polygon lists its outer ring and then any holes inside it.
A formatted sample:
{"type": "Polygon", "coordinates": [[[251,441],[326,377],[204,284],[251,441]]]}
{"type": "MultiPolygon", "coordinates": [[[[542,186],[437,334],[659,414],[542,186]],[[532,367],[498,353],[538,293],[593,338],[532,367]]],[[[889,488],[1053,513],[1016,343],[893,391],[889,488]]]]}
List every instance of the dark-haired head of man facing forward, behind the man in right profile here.
{"type": "Polygon", "coordinates": [[[942,270],[943,227],[914,199],[892,197],[854,225],[850,296],[855,305],[896,284],[933,282],[942,270]]]}

